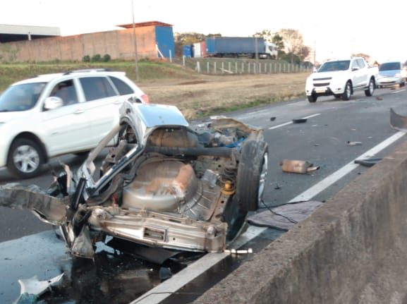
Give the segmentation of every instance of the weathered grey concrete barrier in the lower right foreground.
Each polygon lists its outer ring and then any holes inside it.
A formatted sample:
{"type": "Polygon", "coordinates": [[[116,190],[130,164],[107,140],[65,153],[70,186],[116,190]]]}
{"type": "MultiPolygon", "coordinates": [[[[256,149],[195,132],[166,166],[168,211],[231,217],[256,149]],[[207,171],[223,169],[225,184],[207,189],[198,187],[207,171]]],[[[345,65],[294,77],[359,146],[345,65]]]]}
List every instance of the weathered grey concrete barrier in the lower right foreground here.
{"type": "Polygon", "coordinates": [[[407,142],[194,303],[407,303],[407,142]]]}

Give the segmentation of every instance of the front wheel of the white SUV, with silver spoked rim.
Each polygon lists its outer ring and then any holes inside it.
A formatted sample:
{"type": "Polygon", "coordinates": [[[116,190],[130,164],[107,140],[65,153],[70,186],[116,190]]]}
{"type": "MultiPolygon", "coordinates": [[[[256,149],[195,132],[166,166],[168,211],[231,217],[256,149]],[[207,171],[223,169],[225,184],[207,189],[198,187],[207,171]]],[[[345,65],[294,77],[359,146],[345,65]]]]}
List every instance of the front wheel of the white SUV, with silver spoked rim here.
{"type": "Polygon", "coordinates": [[[40,174],[44,159],[44,152],[37,142],[18,138],[8,152],[7,168],[16,178],[31,178],[40,174]]]}

